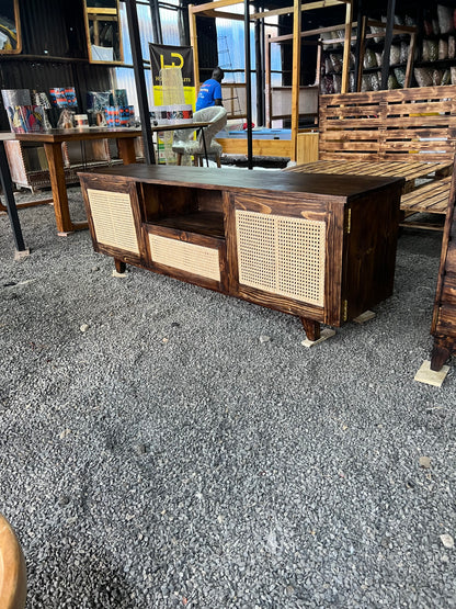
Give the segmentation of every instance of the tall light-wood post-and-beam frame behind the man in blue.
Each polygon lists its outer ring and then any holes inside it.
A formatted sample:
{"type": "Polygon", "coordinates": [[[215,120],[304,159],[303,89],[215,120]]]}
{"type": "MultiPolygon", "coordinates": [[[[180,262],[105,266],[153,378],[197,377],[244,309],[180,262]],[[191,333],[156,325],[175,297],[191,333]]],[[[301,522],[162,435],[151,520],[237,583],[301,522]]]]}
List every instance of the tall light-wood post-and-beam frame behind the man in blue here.
{"type": "MultiPolygon", "coordinates": [[[[191,45],[193,46],[193,61],[195,75],[195,88],[200,89],[200,68],[198,68],[198,46],[196,35],[196,15],[206,18],[220,18],[243,21],[243,15],[239,13],[231,13],[220,9],[240,4],[240,0],[215,0],[205,4],[189,5],[189,21],[190,21],[190,37],[191,45]]],[[[353,2],[352,0],[318,0],[316,2],[303,3],[301,0],[294,0],[293,7],[274,9],[250,14],[250,20],[265,20],[269,16],[276,16],[281,14],[293,13],[293,86],[292,86],[292,139],[289,140],[288,155],[292,160],[296,160],[297,156],[297,138],[299,132],[299,81],[300,81],[300,48],[301,48],[301,13],[315,9],[339,7],[345,4],[345,40],[343,50],[343,72],[342,72],[342,91],[349,89],[349,56],[350,56],[350,40],[352,34],[353,21],[353,2]]]]}

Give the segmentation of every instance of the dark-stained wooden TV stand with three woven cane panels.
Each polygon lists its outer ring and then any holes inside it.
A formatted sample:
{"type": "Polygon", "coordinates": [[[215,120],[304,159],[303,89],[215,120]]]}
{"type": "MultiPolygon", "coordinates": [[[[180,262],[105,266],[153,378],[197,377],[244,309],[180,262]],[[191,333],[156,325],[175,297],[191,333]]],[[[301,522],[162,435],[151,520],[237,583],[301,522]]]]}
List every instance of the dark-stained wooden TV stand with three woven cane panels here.
{"type": "Polygon", "coordinates": [[[134,165],[80,173],[95,251],[300,317],[392,292],[402,179],[134,165]]]}

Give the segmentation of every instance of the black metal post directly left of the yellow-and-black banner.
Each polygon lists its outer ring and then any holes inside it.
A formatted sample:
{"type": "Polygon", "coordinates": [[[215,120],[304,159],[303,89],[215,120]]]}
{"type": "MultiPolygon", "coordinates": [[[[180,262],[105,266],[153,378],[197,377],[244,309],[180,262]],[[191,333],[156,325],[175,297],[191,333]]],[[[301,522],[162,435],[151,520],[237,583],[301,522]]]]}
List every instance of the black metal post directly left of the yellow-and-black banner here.
{"type": "Polygon", "coordinates": [[[144,61],[141,52],[141,41],[139,37],[138,13],[136,0],[127,0],[126,10],[128,19],[129,41],[132,45],[133,67],[135,71],[136,91],[138,94],[139,116],[141,120],[141,131],[144,140],[144,154],[147,165],[156,163],[153,153],[152,129],[150,126],[149,103],[147,100],[146,78],[144,76],[144,61]]]}

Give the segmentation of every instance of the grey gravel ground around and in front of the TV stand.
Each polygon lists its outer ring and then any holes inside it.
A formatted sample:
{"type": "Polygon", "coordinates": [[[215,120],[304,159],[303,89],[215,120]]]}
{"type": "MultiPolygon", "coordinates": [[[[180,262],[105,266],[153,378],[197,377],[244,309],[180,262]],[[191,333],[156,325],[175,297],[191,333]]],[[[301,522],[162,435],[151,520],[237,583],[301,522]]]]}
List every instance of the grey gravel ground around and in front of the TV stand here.
{"type": "Polygon", "coordinates": [[[29,608],[456,607],[454,362],[413,381],[438,234],[403,233],[394,296],[308,350],[295,317],[113,278],[50,206],[20,218],[18,262],[0,217],[0,511],[29,608]]]}

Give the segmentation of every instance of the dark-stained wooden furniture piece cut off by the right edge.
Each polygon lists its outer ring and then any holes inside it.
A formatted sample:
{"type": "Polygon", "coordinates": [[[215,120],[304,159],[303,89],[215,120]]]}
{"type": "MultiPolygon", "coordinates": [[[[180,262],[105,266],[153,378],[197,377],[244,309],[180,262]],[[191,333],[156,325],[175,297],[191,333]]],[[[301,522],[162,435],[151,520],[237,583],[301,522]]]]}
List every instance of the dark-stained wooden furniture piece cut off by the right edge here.
{"type": "Polygon", "coordinates": [[[431,370],[438,371],[456,353],[456,163],[453,167],[431,334],[431,370]]]}

